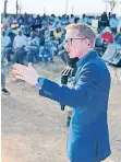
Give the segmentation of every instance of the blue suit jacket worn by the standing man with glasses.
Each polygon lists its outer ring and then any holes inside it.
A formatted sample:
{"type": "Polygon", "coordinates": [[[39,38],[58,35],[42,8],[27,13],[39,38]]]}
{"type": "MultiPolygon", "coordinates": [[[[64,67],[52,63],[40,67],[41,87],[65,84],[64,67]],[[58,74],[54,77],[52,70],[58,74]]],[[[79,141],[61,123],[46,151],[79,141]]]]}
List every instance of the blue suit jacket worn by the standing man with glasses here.
{"type": "Polygon", "coordinates": [[[73,89],[44,80],[39,95],[74,108],[68,138],[71,162],[95,162],[110,155],[109,89],[110,73],[95,50],[78,60],[73,89]]]}

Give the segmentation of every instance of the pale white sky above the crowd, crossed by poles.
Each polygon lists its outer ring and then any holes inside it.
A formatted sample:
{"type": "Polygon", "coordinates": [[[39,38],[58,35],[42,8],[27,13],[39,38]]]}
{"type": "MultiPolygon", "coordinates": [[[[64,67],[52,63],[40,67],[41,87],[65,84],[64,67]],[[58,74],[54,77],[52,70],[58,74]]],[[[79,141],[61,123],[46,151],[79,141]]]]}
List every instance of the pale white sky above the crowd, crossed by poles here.
{"type": "MultiPolygon", "coordinates": [[[[2,0],[2,7],[3,7],[2,0]]],[[[106,11],[106,3],[104,0],[17,0],[22,5],[22,13],[43,14],[44,10],[47,14],[64,14],[65,4],[68,1],[68,14],[82,14],[82,13],[102,13],[106,11]],[[73,5],[73,7],[72,7],[73,5]],[[72,10],[73,8],[73,10],[72,10]]],[[[16,0],[8,0],[8,12],[15,13],[16,0]]],[[[121,15],[121,0],[114,8],[114,13],[121,15]]],[[[3,8],[2,8],[3,11],[3,8]]],[[[107,5],[107,11],[110,11],[107,5]]]]}

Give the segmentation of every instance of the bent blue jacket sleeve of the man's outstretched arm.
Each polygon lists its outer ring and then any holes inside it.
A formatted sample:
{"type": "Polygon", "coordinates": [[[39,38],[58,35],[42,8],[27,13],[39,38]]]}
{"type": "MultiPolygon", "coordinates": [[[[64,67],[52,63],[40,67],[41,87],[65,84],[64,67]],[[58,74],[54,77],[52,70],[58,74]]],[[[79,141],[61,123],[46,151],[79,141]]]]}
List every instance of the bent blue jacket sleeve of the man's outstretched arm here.
{"type": "Polygon", "coordinates": [[[44,84],[39,90],[39,95],[51,99],[71,107],[85,107],[86,104],[94,100],[99,91],[98,82],[100,80],[100,69],[94,63],[86,65],[78,72],[77,83],[73,89],[48,79],[44,80],[44,84]]]}

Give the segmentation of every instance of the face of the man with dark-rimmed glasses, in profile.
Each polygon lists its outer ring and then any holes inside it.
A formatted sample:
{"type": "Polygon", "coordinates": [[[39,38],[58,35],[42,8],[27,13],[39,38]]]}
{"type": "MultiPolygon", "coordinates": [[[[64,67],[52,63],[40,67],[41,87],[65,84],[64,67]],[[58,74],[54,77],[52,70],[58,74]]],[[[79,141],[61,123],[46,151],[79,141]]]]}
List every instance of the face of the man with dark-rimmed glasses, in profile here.
{"type": "Polygon", "coordinates": [[[69,30],[65,35],[64,48],[69,53],[70,58],[81,58],[88,48],[89,39],[81,36],[77,30],[69,30]]]}

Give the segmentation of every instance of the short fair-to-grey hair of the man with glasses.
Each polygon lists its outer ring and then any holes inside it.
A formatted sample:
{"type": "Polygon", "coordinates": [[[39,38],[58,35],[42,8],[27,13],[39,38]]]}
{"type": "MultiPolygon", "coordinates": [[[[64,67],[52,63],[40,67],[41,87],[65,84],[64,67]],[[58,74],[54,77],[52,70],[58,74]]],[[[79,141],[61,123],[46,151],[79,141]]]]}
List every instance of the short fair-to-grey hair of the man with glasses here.
{"type": "Polygon", "coordinates": [[[90,40],[92,46],[95,45],[96,33],[94,32],[94,30],[89,25],[84,24],[84,23],[70,24],[70,25],[65,26],[65,31],[68,31],[68,30],[77,30],[78,35],[88,38],[90,40]]]}

